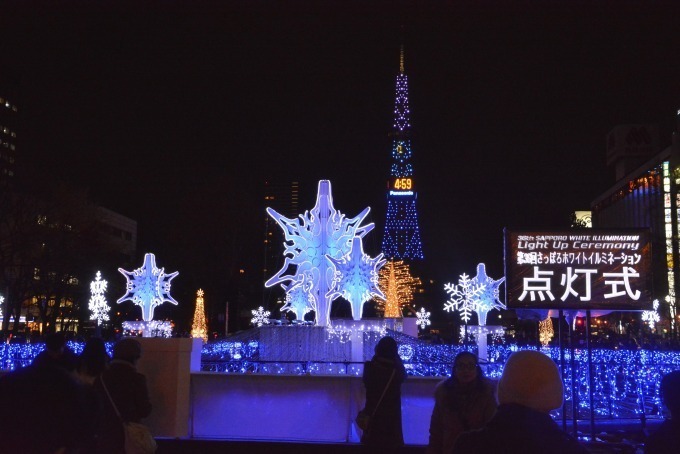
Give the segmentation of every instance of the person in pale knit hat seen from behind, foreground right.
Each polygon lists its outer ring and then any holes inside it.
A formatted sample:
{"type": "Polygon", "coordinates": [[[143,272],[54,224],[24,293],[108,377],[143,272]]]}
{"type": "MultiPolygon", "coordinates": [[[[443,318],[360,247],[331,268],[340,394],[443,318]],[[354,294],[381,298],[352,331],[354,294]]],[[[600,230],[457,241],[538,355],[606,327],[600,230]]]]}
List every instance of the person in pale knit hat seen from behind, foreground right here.
{"type": "Polygon", "coordinates": [[[461,434],[451,452],[482,454],[585,454],[588,450],[550,416],[564,389],[555,362],[543,353],[510,355],[498,382],[498,410],[485,427],[461,434]]]}

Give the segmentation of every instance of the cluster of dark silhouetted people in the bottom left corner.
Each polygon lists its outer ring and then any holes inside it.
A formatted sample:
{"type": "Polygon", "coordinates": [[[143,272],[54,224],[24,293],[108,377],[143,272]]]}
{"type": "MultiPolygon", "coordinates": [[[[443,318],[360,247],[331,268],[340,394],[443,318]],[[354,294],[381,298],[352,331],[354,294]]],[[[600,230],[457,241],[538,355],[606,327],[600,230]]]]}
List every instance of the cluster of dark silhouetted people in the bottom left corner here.
{"type": "Polygon", "coordinates": [[[124,453],[124,422],[151,413],[146,378],[136,370],[141,355],[132,338],[118,341],[110,358],[100,338],[75,355],[63,333],[49,335],[30,366],[0,378],[3,452],[124,453]]]}

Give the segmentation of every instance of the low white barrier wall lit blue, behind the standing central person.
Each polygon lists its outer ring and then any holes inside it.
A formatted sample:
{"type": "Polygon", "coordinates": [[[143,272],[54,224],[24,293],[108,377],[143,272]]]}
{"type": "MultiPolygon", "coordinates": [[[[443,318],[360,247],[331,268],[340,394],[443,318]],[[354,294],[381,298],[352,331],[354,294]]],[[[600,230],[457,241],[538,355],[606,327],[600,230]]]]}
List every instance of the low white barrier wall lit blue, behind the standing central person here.
{"type": "MultiPolygon", "coordinates": [[[[402,386],[404,441],[426,445],[441,378],[402,386]]],[[[191,374],[193,438],[359,442],[354,417],[364,404],[361,377],[191,374]]]]}

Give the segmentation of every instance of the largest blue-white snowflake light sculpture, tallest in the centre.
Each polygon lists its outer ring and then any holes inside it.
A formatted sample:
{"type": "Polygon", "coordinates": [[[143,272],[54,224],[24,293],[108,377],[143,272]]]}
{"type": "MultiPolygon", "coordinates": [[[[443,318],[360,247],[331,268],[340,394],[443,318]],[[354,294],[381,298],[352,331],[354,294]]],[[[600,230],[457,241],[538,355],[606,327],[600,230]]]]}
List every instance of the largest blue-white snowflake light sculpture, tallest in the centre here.
{"type": "Polygon", "coordinates": [[[366,208],[358,216],[346,219],[333,207],[331,182],[328,180],[319,181],[314,208],[297,219],[286,218],[267,208],[267,213],[283,229],[285,260],[265,286],[281,284],[288,293],[296,283],[308,282],[316,324],[327,326],[331,303],[339,295],[331,292],[335,266],[330,259],[341,259],[350,251],[354,237],[363,238],[373,229],[374,224],[361,226],[369,211],[370,208],[366,208]]]}

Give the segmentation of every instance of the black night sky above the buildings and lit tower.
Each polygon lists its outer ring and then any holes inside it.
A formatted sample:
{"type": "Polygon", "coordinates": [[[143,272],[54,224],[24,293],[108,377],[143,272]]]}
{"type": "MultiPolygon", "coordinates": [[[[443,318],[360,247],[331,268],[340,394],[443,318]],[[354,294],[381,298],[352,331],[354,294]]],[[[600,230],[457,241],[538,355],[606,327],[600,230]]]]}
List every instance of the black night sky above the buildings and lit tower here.
{"type": "Polygon", "coordinates": [[[377,253],[403,41],[422,277],[499,277],[504,227],[568,227],[614,183],[606,134],[655,123],[665,147],[680,108],[677,2],[543,4],[5,2],[18,159],[136,219],[173,285],[227,270],[214,236],[241,217],[262,256],[265,180],[301,181],[311,209],[330,179],[337,209],[372,208],[377,253]]]}

